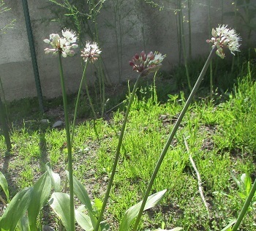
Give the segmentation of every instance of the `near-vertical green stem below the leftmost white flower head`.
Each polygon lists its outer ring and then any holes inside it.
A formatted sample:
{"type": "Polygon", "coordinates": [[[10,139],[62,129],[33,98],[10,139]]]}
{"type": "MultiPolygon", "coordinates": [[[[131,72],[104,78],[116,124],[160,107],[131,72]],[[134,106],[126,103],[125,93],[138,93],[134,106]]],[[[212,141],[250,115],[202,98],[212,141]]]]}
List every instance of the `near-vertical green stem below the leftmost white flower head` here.
{"type": "Polygon", "coordinates": [[[74,184],[73,184],[73,169],[72,169],[72,144],[70,140],[69,131],[69,117],[67,113],[67,94],[64,83],[63,67],[61,62],[61,53],[59,53],[59,73],[61,77],[61,90],[62,99],[64,107],[64,117],[65,117],[65,128],[67,136],[67,159],[68,159],[68,170],[69,170],[69,197],[70,197],[70,224],[72,225],[71,231],[75,231],[75,208],[74,208],[74,184]]]}

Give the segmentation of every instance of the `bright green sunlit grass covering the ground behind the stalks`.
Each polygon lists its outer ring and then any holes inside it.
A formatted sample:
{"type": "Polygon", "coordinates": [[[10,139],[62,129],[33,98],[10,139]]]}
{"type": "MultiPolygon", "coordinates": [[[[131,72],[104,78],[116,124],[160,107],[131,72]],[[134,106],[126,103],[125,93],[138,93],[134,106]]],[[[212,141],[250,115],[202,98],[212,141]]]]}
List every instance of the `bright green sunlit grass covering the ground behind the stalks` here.
{"type": "MultiPolygon", "coordinates": [[[[145,213],[140,230],[162,227],[163,224],[165,229],[221,230],[230,219],[238,216],[243,200],[238,197],[231,173],[236,178],[248,173],[252,180],[255,179],[256,84],[252,78],[248,74],[239,80],[228,98],[225,94],[212,100],[198,99],[189,107],[152,189],[152,194],[162,189],[167,189],[167,194],[160,205],[145,213]],[[186,151],[184,138],[190,153],[186,151]],[[189,154],[203,181],[210,218],[198,192],[189,154]]],[[[166,88],[169,86],[157,86],[158,98],[166,94],[166,88]]],[[[158,156],[184,105],[184,94],[166,94],[165,97],[165,102],[162,98],[157,101],[154,87],[146,84],[138,90],[132,104],[105,213],[113,230],[127,208],[142,199],[158,156]]],[[[60,105],[58,99],[47,103],[53,108],[60,105]]],[[[70,99],[70,115],[73,105],[70,99]]],[[[74,174],[86,186],[92,199],[102,200],[104,197],[125,107],[126,103],[108,116],[108,120],[86,120],[76,126],[74,174]]],[[[9,111],[13,110],[11,107],[9,111]]],[[[18,109],[15,111],[19,112],[18,109]]],[[[18,189],[31,186],[43,173],[46,162],[52,164],[53,171],[61,173],[64,181],[67,162],[64,129],[52,129],[50,125],[55,118],[47,113],[34,112],[29,118],[20,113],[18,117],[24,122],[15,122],[19,126],[12,126],[13,148],[8,160],[4,158],[4,137],[0,136],[1,160],[7,162],[4,174],[12,184],[12,195],[18,189]],[[39,123],[41,118],[49,118],[50,124],[42,125],[39,123]]],[[[242,225],[243,230],[255,229],[253,211],[247,213],[242,225]]]]}

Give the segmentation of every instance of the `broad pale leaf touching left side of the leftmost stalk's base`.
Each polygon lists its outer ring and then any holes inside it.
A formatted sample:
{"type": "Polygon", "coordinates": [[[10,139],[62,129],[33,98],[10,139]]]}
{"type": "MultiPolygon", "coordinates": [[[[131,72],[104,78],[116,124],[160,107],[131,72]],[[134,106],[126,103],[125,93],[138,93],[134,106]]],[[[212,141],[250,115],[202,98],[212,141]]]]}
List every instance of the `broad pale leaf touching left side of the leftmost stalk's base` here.
{"type": "Polygon", "coordinates": [[[63,192],[53,192],[49,200],[50,207],[59,216],[67,231],[72,230],[69,200],[69,194],[63,192]]]}

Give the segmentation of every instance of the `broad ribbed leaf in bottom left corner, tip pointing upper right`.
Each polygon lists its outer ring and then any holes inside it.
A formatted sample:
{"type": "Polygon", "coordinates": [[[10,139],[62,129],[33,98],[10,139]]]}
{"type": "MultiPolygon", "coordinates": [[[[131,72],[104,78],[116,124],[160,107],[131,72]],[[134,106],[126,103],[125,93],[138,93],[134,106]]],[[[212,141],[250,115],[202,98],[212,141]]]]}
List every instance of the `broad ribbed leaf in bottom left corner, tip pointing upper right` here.
{"type": "Polygon", "coordinates": [[[12,198],[3,216],[1,216],[0,227],[3,230],[15,230],[18,221],[29,208],[33,187],[21,190],[12,198]]]}

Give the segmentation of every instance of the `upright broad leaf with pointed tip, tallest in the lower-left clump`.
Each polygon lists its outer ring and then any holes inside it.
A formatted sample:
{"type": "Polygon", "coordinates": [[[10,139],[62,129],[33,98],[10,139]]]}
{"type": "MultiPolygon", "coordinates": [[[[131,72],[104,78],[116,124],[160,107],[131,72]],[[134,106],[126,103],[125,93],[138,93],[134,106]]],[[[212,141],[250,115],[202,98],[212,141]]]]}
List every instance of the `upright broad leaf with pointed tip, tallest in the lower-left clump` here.
{"type": "Polygon", "coordinates": [[[37,229],[37,216],[39,211],[48,201],[51,189],[50,175],[45,172],[33,186],[31,202],[28,208],[29,227],[31,230],[37,229]]]}

